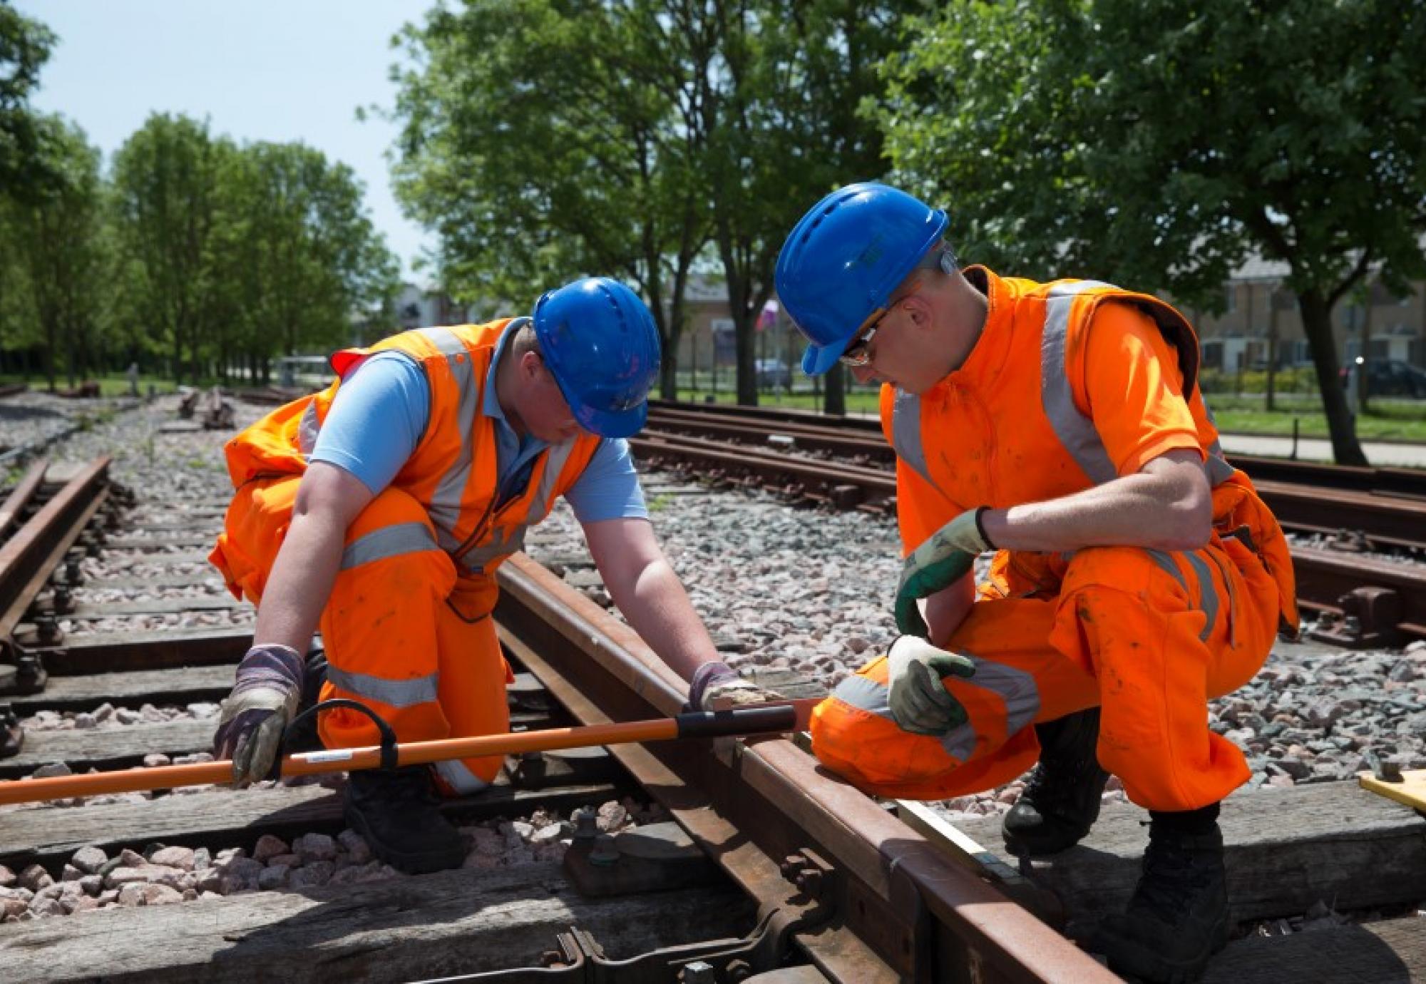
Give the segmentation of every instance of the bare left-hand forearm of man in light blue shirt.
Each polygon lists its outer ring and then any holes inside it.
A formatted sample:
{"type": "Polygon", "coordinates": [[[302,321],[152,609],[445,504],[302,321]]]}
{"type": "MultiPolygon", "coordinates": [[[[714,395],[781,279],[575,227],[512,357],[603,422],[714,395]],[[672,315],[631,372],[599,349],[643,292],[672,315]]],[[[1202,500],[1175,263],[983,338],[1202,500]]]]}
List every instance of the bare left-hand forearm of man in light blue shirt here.
{"type": "Polygon", "coordinates": [[[255,645],[279,643],[305,653],[337,580],[345,531],[332,519],[292,516],[258,606],[255,645]]]}

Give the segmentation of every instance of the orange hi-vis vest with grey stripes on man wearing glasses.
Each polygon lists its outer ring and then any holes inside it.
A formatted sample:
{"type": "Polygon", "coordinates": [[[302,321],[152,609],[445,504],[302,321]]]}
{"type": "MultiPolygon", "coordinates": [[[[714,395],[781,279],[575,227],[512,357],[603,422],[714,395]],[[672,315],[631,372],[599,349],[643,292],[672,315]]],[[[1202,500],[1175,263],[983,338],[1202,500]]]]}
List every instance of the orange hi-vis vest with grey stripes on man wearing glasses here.
{"type": "MultiPolygon", "coordinates": [[[[1248,476],[1222,455],[1198,382],[1198,338],[1182,314],[1148,294],[1109,284],[1002,278],[983,267],[1000,298],[992,317],[1005,351],[977,379],[953,372],[925,394],[881,388],[881,428],[897,453],[897,513],[903,531],[934,531],[975,506],[1044,502],[1118,478],[1094,421],[1074,396],[1072,367],[1084,361],[1087,328],[1101,304],[1131,304],[1178,352],[1184,396],[1214,488],[1219,535],[1245,538],[1279,590],[1285,625],[1298,625],[1292,559],[1276,519],[1248,476]],[[967,426],[967,422],[971,425],[967,426]],[[914,478],[913,478],[914,476],[914,478]],[[924,479],[924,481],[917,481],[924,479]]],[[[1092,374],[1092,365],[1082,367],[1092,374]]],[[[910,552],[917,543],[907,543],[910,552]]],[[[1001,565],[1004,556],[998,558],[1001,565]]]]}

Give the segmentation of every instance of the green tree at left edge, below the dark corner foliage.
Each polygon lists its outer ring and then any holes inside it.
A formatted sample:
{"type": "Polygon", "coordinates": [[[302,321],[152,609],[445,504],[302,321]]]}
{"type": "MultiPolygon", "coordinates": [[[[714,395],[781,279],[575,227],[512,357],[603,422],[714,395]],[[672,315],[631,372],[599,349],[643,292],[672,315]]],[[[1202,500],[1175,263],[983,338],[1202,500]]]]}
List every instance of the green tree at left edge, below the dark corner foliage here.
{"type": "Polygon", "coordinates": [[[67,375],[96,367],[104,307],[104,231],[100,153],[84,133],[58,117],[34,121],[46,180],[24,197],[0,203],[0,237],[9,241],[11,275],[26,297],[44,345],[44,372],[54,391],[54,357],[67,375]]]}

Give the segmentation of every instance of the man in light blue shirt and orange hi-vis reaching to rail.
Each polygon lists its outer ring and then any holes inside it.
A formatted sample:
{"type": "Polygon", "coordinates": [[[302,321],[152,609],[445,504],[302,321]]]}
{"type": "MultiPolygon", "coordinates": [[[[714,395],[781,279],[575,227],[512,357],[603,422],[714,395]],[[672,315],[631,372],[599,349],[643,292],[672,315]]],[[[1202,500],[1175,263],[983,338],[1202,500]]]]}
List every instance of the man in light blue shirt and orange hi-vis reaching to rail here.
{"type": "MultiPolygon", "coordinates": [[[[627,287],[585,278],[529,318],[421,328],[332,357],[338,379],[227,446],[237,493],[212,552],[258,605],[215,747],[267,776],[298,704],[354,699],[398,740],[509,730],[495,570],[563,495],[630,625],[690,680],[694,709],[777,695],[717,660],[655,540],[625,438],[647,416],[659,332],[627,287]],[[308,659],[321,626],[325,663],[308,659]],[[305,685],[305,687],[304,687],[305,685]]],[[[358,710],[319,714],[329,749],[379,743],[358,710]]],[[[438,793],[491,783],[501,756],[351,773],[345,814],[406,871],[465,857],[438,793]]]]}

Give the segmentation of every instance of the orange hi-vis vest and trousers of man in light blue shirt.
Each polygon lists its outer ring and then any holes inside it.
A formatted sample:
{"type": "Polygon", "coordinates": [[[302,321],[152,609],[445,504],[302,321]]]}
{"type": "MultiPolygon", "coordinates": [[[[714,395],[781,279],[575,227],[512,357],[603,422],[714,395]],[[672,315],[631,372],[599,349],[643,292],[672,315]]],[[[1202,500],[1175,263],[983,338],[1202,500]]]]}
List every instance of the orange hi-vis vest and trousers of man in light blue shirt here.
{"type": "MultiPolygon", "coordinates": [[[[322,610],[328,676],[321,697],[351,697],[386,719],[402,742],[509,729],[512,679],[489,617],[495,569],[520,549],[599,446],[583,435],[533,463],[525,491],[496,508],[495,422],[481,412],[495,345],[509,319],[422,328],[332,357],[344,374],[378,351],[405,352],[431,385],[431,415],[392,483],[347,531],[341,569],[322,610]]],[[[268,414],[227,445],[237,493],[210,559],[228,589],[255,605],[292,519],[307,455],[341,379],[268,414]]],[[[379,744],[376,727],[347,709],[324,712],[328,747],[379,744]]],[[[501,756],[439,763],[456,793],[495,779],[501,756]]]]}

